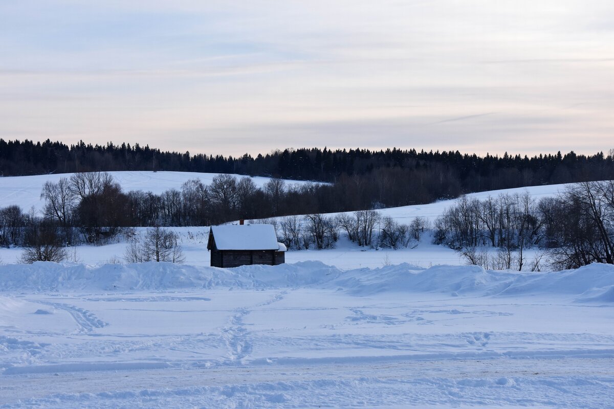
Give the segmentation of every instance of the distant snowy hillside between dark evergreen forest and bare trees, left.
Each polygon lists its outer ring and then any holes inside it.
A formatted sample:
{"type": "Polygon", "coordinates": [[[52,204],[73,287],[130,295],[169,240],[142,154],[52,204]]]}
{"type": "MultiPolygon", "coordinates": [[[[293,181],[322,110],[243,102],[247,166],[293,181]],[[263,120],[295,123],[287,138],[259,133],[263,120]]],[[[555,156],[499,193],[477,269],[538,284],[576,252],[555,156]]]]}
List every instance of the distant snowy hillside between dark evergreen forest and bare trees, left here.
{"type": "MultiPolygon", "coordinates": [[[[218,174],[197,172],[108,172],[114,180],[122,186],[123,191],[142,190],[161,194],[168,189],[181,189],[181,185],[191,179],[200,179],[205,185],[218,174]]],[[[19,205],[27,212],[33,207],[41,210],[44,201],[41,201],[41,191],[45,182],[57,183],[60,178],[70,178],[72,174],[34,175],[34,176],[11,176],[0,177],[0,207],[19,205]]],[[[243,175],[235,175],[238,178],[243,175]]],[[[252,177],[255,185],[262,187],[270,178],[252,177]]],[[[291,185],[308,183],[297,180],[287,180],[291,185]]]]}

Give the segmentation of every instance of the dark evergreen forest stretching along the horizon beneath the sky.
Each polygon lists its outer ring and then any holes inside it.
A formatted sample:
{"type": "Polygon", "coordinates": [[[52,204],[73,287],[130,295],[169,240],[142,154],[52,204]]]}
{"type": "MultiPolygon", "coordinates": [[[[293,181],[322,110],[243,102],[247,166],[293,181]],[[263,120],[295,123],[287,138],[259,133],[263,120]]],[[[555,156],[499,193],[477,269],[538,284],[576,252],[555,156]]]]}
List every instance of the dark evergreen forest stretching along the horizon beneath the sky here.
{"type": "MultiPolygon", "coordinates": [[[[240,157],[190,154],[142,147],[138,143],[91,145],[61,142],[0,139],[0,174],[34,175],[50,173],[99,172],[112,170],[174,170],[337,182],[342,177],[361,180],[379,171],[389,178],[426,186],[441,184],[448,189],[470,193],[552,183],[606,180],[614,177],[614,150],[607,155],[529,156],[461,154],[459,151],[416,151],[389,148],[336,149],[299,148],[277,150],[265,155],[240,157]]],[[[383,188],[384,189],[384,188],[383,188]]],[[[381,196],[381,195],[380,195],[381,196]]],[[[439,198],[439,197],[437,197],[439,198]]],[[[370,201],[378,200],[371,193],[370,201]]]]}

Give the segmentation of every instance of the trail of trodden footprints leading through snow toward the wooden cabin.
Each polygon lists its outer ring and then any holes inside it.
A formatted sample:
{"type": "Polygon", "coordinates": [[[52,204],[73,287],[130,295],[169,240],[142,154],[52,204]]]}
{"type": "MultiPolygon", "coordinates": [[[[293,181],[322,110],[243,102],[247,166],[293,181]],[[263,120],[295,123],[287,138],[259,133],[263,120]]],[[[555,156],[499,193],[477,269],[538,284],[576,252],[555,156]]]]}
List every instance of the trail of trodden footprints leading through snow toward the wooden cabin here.
{"type": "Polygon", "coordinates": [[[249,354],[252,353],[252,342],[249,339],[249,331],[247,331],[243,318],[252,312],[253,308],[266,307],[274,302],[284,299],[287,291],[279,292],[275,294],[270,300],[256,304],[251,308],[241,307],[233,310],[233,315],[230,317],[229,326],[222,328],[222,338],[226,343],[228,349],[228,361],[229,363],[243,364],[249,354]]]}

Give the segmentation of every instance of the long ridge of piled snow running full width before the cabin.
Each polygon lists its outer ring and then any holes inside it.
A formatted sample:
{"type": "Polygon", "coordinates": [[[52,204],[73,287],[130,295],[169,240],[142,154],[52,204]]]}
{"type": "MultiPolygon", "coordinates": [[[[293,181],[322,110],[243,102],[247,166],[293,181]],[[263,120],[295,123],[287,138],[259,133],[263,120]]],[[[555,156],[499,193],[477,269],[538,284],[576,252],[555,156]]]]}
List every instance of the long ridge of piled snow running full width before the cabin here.
{"type": "MultiPolygon", "coordinates": [[[[614,302],[614,266],[592,264],[563,272],[488,271],[478,266],[399,264],[343,272],[319,261],[235,269],[181,266],[165,262],[84,264],[36,262],[0,266],[0,291],[153,290],[183,288],[317,288],[355,296],[386,292],[437,292],[449,296],[559,294],[579,302],[614,302]]],[[[2,302],[0,299],[0,310],[2,302]]]]}

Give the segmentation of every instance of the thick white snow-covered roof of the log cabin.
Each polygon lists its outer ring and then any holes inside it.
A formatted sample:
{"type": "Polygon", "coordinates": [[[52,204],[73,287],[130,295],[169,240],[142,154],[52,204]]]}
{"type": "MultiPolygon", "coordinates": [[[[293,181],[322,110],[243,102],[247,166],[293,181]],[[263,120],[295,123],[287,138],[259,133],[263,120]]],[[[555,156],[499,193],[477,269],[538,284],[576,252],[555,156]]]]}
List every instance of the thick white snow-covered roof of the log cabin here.
{"type": "Polygon", "coordinates": [[[217,250],[278,250],[272,224],[211,226],[217,250]]]}

